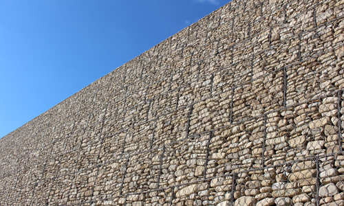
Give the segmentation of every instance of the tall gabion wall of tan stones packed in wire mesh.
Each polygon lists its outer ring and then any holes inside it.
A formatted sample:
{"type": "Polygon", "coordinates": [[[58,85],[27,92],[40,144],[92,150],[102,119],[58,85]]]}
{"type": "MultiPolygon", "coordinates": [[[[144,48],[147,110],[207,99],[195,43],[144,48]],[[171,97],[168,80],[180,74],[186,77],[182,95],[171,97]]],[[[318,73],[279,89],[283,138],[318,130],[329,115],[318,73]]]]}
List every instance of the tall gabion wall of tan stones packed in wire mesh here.
{"type": "Polygon", "coordinates": [[[232,1],[0,139],[0,205],[344,206],[344,1],[232,1]]]}

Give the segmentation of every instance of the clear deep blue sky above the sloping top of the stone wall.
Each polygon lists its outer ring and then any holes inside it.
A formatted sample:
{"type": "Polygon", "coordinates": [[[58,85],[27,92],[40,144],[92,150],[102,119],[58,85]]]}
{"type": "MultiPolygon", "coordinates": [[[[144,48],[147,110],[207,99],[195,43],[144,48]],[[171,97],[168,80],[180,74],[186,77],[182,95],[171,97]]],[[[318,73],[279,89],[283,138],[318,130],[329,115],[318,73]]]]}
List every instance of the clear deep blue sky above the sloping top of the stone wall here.
{"type": "Polygon", "coordinates": [[[229,0],[1,0],[0,138],[229,0]]]}

